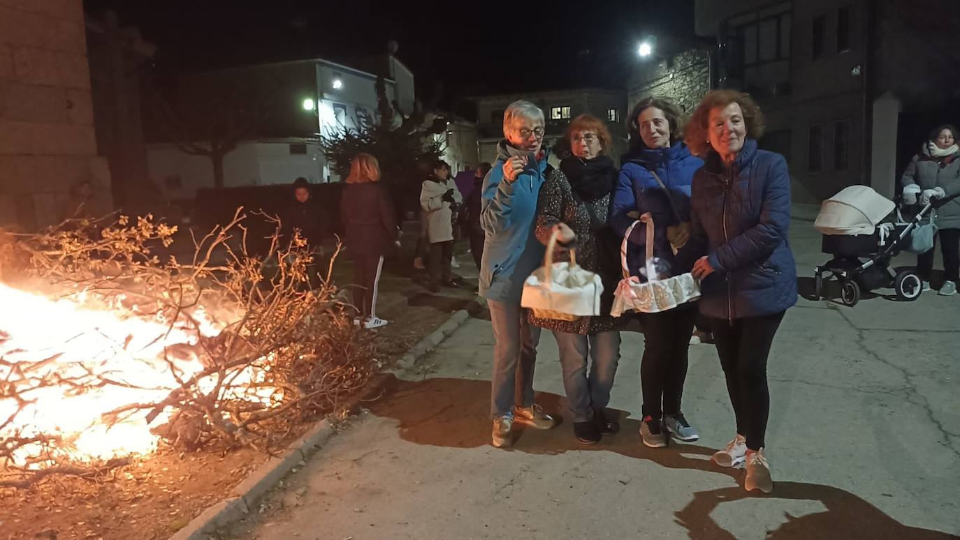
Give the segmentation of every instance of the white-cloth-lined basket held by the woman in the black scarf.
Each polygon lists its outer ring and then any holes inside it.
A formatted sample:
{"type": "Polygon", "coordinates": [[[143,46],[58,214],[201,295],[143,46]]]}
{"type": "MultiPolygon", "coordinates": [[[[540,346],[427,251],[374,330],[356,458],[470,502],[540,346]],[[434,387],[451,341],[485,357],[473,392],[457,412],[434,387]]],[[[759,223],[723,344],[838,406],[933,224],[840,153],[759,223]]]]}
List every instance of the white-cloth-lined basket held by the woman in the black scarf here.
{"type": "Polygon", "coordinates": [[[557,246],[557,232],[547,243],[543,266],[534,270],[523,282],[520,306],[535,310],[541,318],[553,312],[575,317],[600,315],[600,295],[603,282],[600,276],[577,266],[576,252],[570,249],[569,263],[554,263],[553,251],[557,246]]]}

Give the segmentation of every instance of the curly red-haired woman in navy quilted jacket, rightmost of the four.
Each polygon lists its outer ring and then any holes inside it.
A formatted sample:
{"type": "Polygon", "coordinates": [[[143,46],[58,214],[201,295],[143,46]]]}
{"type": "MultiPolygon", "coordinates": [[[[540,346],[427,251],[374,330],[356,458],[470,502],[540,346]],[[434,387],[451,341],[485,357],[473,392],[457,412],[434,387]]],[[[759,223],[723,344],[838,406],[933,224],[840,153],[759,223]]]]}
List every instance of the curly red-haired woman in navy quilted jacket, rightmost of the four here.
{"type": "Polygon", "coordinates": [[[762,134],[763,115],[750,95],[704,96],[686,143],[706,164],[693,176],[690,241],[678,257],[696,259],[700,311],[710,319],[736,416],[736,436],[713,461],[746,461],[744,487],[770,493],[767,357],[783,314],[797,303],[797,273],[787,242],[790,175],[782,155],[757,150],[762,134]]]}

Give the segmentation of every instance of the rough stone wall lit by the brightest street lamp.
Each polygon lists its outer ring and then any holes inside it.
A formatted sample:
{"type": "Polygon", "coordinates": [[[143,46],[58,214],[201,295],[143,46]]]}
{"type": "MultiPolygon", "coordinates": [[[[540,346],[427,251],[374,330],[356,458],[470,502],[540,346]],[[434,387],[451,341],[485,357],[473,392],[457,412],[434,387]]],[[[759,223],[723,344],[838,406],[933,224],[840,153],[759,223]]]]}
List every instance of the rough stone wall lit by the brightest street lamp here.
{"type": "Polygon", "coordinates": [[[637,102],[650,96],[666,96],[687,112],[692,112],[709,89],[709,58],[705,51],[684,51],[670,61],[650,60],[630,78],[628,112],[637,102]]]}

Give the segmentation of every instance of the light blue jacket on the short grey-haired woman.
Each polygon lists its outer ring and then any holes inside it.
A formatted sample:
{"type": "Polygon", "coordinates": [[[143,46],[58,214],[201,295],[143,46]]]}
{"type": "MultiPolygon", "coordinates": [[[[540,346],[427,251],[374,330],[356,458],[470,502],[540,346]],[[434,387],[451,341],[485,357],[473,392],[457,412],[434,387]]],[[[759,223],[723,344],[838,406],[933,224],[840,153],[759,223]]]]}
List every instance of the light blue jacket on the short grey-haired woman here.
{"type": "Polygon", "coordinates": [[[480,225],[483,226],[483,259],[480,262],[480,295],[488,300],[519,303],[523,282],[543,264],[544,247],[534,234],[537,199],[546,179],[547,152],[517,150],[500,141],[496,162],[483,183],[480,225]],[[527,156],[526,168],[508,182],[503,163],[512,156],[527,156]]]}

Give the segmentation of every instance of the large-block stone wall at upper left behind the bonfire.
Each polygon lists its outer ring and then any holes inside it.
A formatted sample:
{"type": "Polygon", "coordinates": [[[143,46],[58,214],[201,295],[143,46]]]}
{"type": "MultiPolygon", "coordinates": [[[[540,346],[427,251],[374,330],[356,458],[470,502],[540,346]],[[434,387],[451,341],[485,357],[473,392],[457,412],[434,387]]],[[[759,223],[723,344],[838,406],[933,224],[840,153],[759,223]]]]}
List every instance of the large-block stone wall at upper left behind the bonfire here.
{"type": "Polygon", "coordinates": [[[82,180],[106,202],[109,177],[97,157],[83,0],[0,0],[0,226],[58,222],[82,180]]]}

